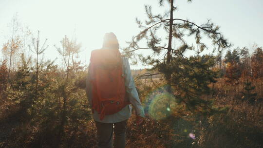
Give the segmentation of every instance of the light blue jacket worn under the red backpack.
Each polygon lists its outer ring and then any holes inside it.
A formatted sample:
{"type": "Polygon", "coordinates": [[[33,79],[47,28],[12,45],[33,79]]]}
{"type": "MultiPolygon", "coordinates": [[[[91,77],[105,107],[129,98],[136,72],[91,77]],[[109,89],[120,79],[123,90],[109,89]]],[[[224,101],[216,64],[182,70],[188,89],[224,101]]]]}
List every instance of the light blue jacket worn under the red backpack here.
{"type": "MultiPolygon", "coordinates": [[[[134,107],[136,114],[144,117],[144,110],[143,110],[141,101],[139,99],[138,92],[134,85],[134,80],[131,75],[131,68],[130,68],[128,58],[122,57],[122,61],[123,61],[123,74],[125,77],[125,87],[126,87],[126,91],[128,92],[129,101],[131,102],[131,105],[134,107]]],[[[87,92],[87,96],[90,102],[90,106],[92,106],[92,98],[93,98],[92,93],[91,93],[92,85],[91,85],[89,76],[90,74],[88,74],[87,76],[86,92],[87,92]]],[[[97,111],[94,111],[93,118],[95,121],[102,122],[102,123],[116,123],[116,122],[127,120],[131,116],[131,105],[127,105],[121,111],[116,112],[114,114],[105,115],[103,120],[100,120],[100,114],[98,114],[97,111]]]]}

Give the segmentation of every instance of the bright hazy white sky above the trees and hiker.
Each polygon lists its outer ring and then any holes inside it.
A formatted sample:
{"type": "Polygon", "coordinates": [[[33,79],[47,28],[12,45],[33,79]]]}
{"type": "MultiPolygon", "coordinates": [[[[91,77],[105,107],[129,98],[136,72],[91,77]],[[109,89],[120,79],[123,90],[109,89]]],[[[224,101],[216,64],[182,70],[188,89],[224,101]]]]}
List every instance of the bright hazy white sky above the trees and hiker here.
{"type": "MultiPolygon", "coordinates": [[[[189,19],[196,24],[211,19],[233,44],[231,49],[251,48],[254,43],[263,46],[263,0],[192,0],[191,3],[174,0],[174,3],[179,8],[174,18],[189,19]]],[[[17,13],[19,22],[33,34],[40,31],[40,41],[48,39],[45,58],[58,57],[61,61],[53,45],[60,46],[59,41],[66,35],[82,44],[79,56],[88,63],[91,51],[101,48],[105,33],[113,32],[121,47],[128,46],[126,41],[141,30],[135,18],[146,19],[145,4],[152,5],[153,14],[162,14],[169,8],[168,5],[160,8],[158,0],[0,0],[0,48],[11,36],[8,24],[17,13]]]]}

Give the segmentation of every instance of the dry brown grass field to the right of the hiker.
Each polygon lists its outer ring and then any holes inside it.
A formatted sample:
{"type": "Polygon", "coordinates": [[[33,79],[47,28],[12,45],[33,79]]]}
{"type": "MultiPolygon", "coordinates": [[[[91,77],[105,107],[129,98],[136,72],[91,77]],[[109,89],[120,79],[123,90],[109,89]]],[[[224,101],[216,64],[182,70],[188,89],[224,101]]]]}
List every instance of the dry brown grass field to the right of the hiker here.
{"type": "MultiPolygon", "coordinates": [[[[151,79],[137,81],[143,102],[146,92],[162,83],[160,79],[155,79],[155,82],[151,79]]],[[[260,100],[263,96],[260,86],[256,85],[254,90],[258,93],[255,104],[242,98],[243,83],[231,86],[220,78],[210,87],[213,93],[205,97],[214,99],[216,107],[228,108],[224,113],[207,118],[192,115],[187,120],[170,116],[156,121],[148,116],[142,127],[130,123],[128,148],[262,148],[263,101],[260,100]],[[182,132],[184,128],[193,131],[196,139],[192,140],[182,132]]]]}

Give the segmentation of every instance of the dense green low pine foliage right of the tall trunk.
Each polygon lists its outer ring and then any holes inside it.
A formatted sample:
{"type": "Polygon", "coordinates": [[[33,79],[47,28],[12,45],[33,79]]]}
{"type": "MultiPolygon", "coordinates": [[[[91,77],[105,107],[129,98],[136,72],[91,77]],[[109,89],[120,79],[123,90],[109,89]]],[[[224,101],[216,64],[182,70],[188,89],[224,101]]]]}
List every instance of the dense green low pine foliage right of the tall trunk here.
{"type": "Polygon", "coordinates": [[[173,72],[174,96],[179,103],[185,104],[189,111],[209,114],[214,110],[212,100],[202,99],[202,95],[210,92],[208,85],[216,82],[218,72],[211,70],[215,64],[214,59],[215,57],[210,55],[177,58],[174,60],[178,65],[169,67],[173,72]]]}

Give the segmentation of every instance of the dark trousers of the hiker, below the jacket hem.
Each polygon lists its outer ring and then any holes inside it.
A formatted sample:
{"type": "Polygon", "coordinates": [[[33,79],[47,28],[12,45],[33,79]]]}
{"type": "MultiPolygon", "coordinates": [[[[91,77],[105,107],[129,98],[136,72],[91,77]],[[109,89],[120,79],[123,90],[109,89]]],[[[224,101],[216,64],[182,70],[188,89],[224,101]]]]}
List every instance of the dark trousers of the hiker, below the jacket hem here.
{"type": "Polygon", "coordinates": [[[113,131],[114,148],[125,148],[125,131],[127,120],[117,123],[101,123],[96,121],[95,123],[97,127],[99,148],[113,148],[113,131]]]}

